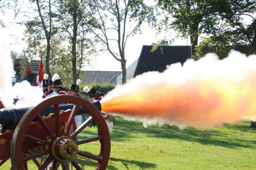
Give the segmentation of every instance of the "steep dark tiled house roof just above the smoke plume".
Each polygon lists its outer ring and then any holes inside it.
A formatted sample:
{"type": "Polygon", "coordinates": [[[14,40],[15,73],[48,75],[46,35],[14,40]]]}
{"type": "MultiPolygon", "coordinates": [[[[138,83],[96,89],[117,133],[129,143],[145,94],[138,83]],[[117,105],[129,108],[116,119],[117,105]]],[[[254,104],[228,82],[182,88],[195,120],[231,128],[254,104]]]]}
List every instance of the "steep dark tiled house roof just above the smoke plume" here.
{"type": "Polygon", "coordinates": [[[134,77],[144,72],[164,72],[166,65],[184,63],[191,58],[190,46],[161,46],[151,52],[152,45],[143,45],[134,77]]]}

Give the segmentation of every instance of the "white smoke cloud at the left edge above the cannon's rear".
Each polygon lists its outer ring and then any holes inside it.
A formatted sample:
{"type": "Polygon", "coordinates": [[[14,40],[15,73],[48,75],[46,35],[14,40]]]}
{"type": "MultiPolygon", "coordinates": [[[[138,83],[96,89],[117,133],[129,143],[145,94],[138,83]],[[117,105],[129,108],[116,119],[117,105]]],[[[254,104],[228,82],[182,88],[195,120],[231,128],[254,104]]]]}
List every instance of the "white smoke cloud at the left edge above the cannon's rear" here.
{"type": "MultiPolygon", "coordinates": [[[[13,61],[10,55],[10,43],[12,41],[6,29],[0,29],[0,99],[6,108],[31,107],[40,102],[43,91],[34,87],[27,81],[16,83],[12,87],[12,78],[15,76],[13,61]],[[13,104],[15,98],[18,102],[13,104]]],[[[15,51],[15,49],[13,50],[15,51]]]]}

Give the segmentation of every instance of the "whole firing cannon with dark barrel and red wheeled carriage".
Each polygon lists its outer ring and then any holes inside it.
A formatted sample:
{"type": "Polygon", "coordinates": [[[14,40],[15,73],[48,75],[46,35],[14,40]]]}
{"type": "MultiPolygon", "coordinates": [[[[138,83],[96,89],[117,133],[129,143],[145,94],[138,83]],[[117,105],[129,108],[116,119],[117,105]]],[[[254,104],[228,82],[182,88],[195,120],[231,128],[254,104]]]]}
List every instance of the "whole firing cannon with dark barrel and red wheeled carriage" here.
{"type": "Polygon", "coordinates": [[[28,170],[28,162],[38,170],[82,170],[83,161],[105,170],[110,133],[100,111],[99,101],[71,95],[45,98],[32,107],[0,109],[0,168],[10,159],[13,170],[28,170]],[[82,114],[88,118],[76,127],[74,117],[82,114]],[[92,123],[97,133],[86,131],[92,123]]]}

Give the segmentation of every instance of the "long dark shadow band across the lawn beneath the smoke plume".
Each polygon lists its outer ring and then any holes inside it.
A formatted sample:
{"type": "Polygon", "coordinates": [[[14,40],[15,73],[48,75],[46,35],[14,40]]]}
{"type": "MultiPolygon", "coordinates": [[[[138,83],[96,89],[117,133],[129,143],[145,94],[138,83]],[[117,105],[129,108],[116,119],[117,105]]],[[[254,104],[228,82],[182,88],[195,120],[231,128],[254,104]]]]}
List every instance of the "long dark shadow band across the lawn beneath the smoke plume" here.
{"type": "Polygon", "coordinates": [[[237,138],[239,133],[255,133],[256,129],[248,128],[248,121],[237,125],[225,124],[222,128],[200,130],[193,127],[187,127],[183,130],[177,126],[171,125],[153,125],[144,128],[141,122],[127,121],[117,119],[114,125],[114,131],[111,132],[111,141],[131,140],[135,133],[145,134],[148,137],[179,139],[183,141],[193,141],[204,145],[219,145],[228,148],[255,148],[256,141],[250,138],[237,138]],[[223,131],[225,129],[225,132],[223,131]],[[222,131],[220,130],[222,129],[222,131]],[[235,136],[235,137],[234,137],[235,136]]]}

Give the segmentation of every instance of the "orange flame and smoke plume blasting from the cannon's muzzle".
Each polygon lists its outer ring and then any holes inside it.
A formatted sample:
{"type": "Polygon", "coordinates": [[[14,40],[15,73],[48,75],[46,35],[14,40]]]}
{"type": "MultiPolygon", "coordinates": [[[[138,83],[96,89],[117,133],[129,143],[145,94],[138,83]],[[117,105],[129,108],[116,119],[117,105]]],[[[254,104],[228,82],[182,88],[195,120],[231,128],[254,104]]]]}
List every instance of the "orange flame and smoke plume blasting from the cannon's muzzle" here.
{"type": "Polygon", "coordinates": [[[256,55],[231,51],[219,60],[175,63],[118,85],[101,100],[102,111],[180,127],[207,128],[256,120],[256,55]]]}

